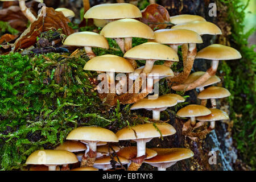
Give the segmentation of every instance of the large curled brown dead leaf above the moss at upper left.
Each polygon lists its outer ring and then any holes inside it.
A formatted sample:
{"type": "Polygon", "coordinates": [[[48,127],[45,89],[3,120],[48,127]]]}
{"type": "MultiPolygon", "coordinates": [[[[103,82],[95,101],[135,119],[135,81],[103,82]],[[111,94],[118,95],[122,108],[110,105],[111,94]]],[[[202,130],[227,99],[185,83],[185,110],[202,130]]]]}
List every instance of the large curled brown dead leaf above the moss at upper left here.
{"type": "Polygon", "coordinates": [[[39,16],[39,18],[30,24],[30,27],[27,28],[20,35],[20,38],[14,43],[14,51],[18,49],[28,48],[36,43],[36,38],[40,35],[41,32],[46,32],[49,30],[58,30],[61,29],[64,35],[73,34],[73,30],[68,26],[70,20],[66,18],[63,13],[55,11],[53,8],[44,7],[44,13],[46,16],[39,16]]]}

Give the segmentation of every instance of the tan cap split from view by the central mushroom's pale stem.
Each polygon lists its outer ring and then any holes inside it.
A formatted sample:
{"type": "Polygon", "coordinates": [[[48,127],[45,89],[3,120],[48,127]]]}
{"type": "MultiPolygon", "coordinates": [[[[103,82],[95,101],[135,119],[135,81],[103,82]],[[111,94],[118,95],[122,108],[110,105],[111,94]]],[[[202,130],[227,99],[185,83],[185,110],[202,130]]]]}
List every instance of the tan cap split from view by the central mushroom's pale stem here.
{"type": "MultiPolygon", "coordinates": [[[[129,78],[131,80],[136,80],[139,74],[141,74],[141,72],[143,71],[143,68],[144,66],[135,69],[135,71],[129,75],[129,78]]],[[[159,64],[153,66],[151,72],[148,73],[148,76],[154,76],[155,74],[158,75],[159,79],[174,76],[174,72],[171,70],[171,68],[159,64]]]]}

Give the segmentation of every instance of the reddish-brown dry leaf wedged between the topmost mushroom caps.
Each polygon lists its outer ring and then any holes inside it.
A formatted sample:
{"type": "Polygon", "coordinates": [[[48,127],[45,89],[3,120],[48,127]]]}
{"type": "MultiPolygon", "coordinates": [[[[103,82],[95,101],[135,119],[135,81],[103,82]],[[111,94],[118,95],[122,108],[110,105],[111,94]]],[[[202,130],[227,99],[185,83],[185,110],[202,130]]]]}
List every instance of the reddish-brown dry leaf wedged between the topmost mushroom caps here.
{"type": "Polygon", "coordinates": [[[163,29],[170,23],[170,15],[163,6],[152,4],[142,10],[141,21],[148,24],[152,30],[163,29]]]}

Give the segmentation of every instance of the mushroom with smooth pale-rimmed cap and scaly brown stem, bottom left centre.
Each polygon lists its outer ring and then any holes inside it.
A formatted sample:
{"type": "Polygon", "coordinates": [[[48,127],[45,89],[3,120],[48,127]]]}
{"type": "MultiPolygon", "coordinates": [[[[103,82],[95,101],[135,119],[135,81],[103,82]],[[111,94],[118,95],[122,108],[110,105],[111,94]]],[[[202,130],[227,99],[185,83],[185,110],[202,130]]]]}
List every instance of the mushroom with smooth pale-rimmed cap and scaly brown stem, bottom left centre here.
{"type": "Polygon", "coordinates": [[[117,136],[102,127],[78,127],[68,134],[67,140],[80,140],[86,143],[89,151],[85,151],[81,167],[92,167],[96,158],[98,142],[118,142],[117,136]],[[87,156],[88,155],[88,156],[87,156]]]}

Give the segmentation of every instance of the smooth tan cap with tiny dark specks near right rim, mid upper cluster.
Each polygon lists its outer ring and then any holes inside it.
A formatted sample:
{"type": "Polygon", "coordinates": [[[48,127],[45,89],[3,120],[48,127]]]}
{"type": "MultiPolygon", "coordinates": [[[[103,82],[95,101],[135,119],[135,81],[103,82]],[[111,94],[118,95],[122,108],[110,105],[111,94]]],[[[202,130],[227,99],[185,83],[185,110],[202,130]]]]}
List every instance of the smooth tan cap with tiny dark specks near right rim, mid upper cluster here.
{"type": "Polygon", "coordinates": [[[179,61],[179,56],[169,46],[155,42],[146,42],[139,46],[131,48],[123,55],[129,59],[136,60],[167,60],[167,61],[179,61]]]}

